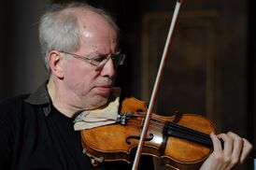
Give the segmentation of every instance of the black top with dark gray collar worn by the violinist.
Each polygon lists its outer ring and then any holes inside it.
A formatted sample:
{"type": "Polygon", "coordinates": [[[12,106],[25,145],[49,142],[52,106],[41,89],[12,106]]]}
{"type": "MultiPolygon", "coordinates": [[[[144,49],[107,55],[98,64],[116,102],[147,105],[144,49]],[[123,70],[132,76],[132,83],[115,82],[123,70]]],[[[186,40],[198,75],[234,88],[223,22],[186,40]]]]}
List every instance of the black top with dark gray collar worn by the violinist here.
{"type": "Polygon", "coordinates": [[[131,169],[127,163],[102,163],[93,168],[82,153],[74,119],[51,105],[46,84],[34,93],[1,102],[0,169],[131,169]]]}

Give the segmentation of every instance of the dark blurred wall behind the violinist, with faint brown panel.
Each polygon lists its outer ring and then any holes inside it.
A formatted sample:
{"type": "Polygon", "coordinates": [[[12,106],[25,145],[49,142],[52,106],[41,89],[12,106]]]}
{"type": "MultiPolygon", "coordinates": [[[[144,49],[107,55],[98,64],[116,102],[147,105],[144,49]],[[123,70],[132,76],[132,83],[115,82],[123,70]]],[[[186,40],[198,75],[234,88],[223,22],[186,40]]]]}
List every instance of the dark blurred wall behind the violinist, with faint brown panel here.
{"type": "MultiPolygon", "coordinates": [[[[176,1],[83,1],[107,9],[121,28],[127,55],[117,79],[122,95],[149,101],[176,1]]],[[[0,100],[34,92],[47,78],[38,20],[50,4],[63,2],[0,2],[0,100]]],[[[154,112],[200,114],[218,132],[256,144],[254,8],[252,0],[184,0],[154,112]]],[[[252,169],[252,162],[237,169],[252,169]]]]}

